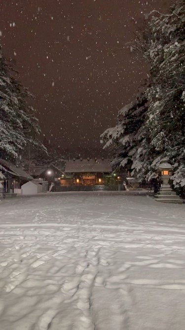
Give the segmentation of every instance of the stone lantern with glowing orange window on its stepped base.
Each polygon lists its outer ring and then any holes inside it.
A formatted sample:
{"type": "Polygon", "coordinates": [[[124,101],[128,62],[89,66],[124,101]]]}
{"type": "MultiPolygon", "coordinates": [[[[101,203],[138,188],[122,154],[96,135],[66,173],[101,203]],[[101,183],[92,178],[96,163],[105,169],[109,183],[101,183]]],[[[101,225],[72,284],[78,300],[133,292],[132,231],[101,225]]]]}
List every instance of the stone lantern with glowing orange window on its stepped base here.
{"type": "Polygon", "coordinates": [[[176,203],[182,204],[182,199],[176,195],[169,185],[169,179],[172,175],[172,165],[167,162],[166,158],[163,158],[158,166],[158,172],[162,179],[162,188],[155,195],[155,200],[162,203],[176,203]]]}

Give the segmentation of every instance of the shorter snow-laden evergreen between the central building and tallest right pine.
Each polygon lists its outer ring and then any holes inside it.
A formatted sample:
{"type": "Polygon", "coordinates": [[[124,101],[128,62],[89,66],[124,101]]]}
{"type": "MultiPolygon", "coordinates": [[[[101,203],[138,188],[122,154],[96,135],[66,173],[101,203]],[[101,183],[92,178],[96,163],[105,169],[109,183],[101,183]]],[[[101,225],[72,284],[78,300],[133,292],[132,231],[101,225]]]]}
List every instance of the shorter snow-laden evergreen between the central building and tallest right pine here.
{"type": "Polygon", "coordinates": [[[132,175],[143,170],[148,150],[147,134],[143,130],[147,109],[147,99],[142,89],[135,102],[127,104],[118,112],[117,125],[101,135],[104,148],[116,150],[113,160],[115,168],[119,167],[124,172],[132,171],[132,175]]]}

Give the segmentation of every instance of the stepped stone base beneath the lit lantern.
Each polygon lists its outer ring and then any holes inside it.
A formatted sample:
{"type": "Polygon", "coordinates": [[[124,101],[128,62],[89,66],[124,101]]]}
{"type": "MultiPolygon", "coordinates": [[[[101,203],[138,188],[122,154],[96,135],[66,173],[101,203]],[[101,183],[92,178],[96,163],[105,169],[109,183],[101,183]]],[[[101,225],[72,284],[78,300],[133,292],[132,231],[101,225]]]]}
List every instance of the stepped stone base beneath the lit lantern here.
{"type": "Polygon", "coordinates": [[[155,200],[161,203],[183,204],[183,200],[170,187],[162,187],[155,195],[155,200]]]}

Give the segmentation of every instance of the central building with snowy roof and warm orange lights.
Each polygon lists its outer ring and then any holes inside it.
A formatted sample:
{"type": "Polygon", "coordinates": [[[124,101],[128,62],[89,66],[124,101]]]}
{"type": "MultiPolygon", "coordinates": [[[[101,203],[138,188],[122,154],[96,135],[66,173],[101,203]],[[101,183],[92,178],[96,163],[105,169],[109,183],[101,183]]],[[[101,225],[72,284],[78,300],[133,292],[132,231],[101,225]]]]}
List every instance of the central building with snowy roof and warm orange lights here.
{"type": "Polygon", "coordinates": [[[96,186],[108,185],[111,181],[112,168],[110,159],[73,159],[66,161],[61,186],[96,186]]]}

